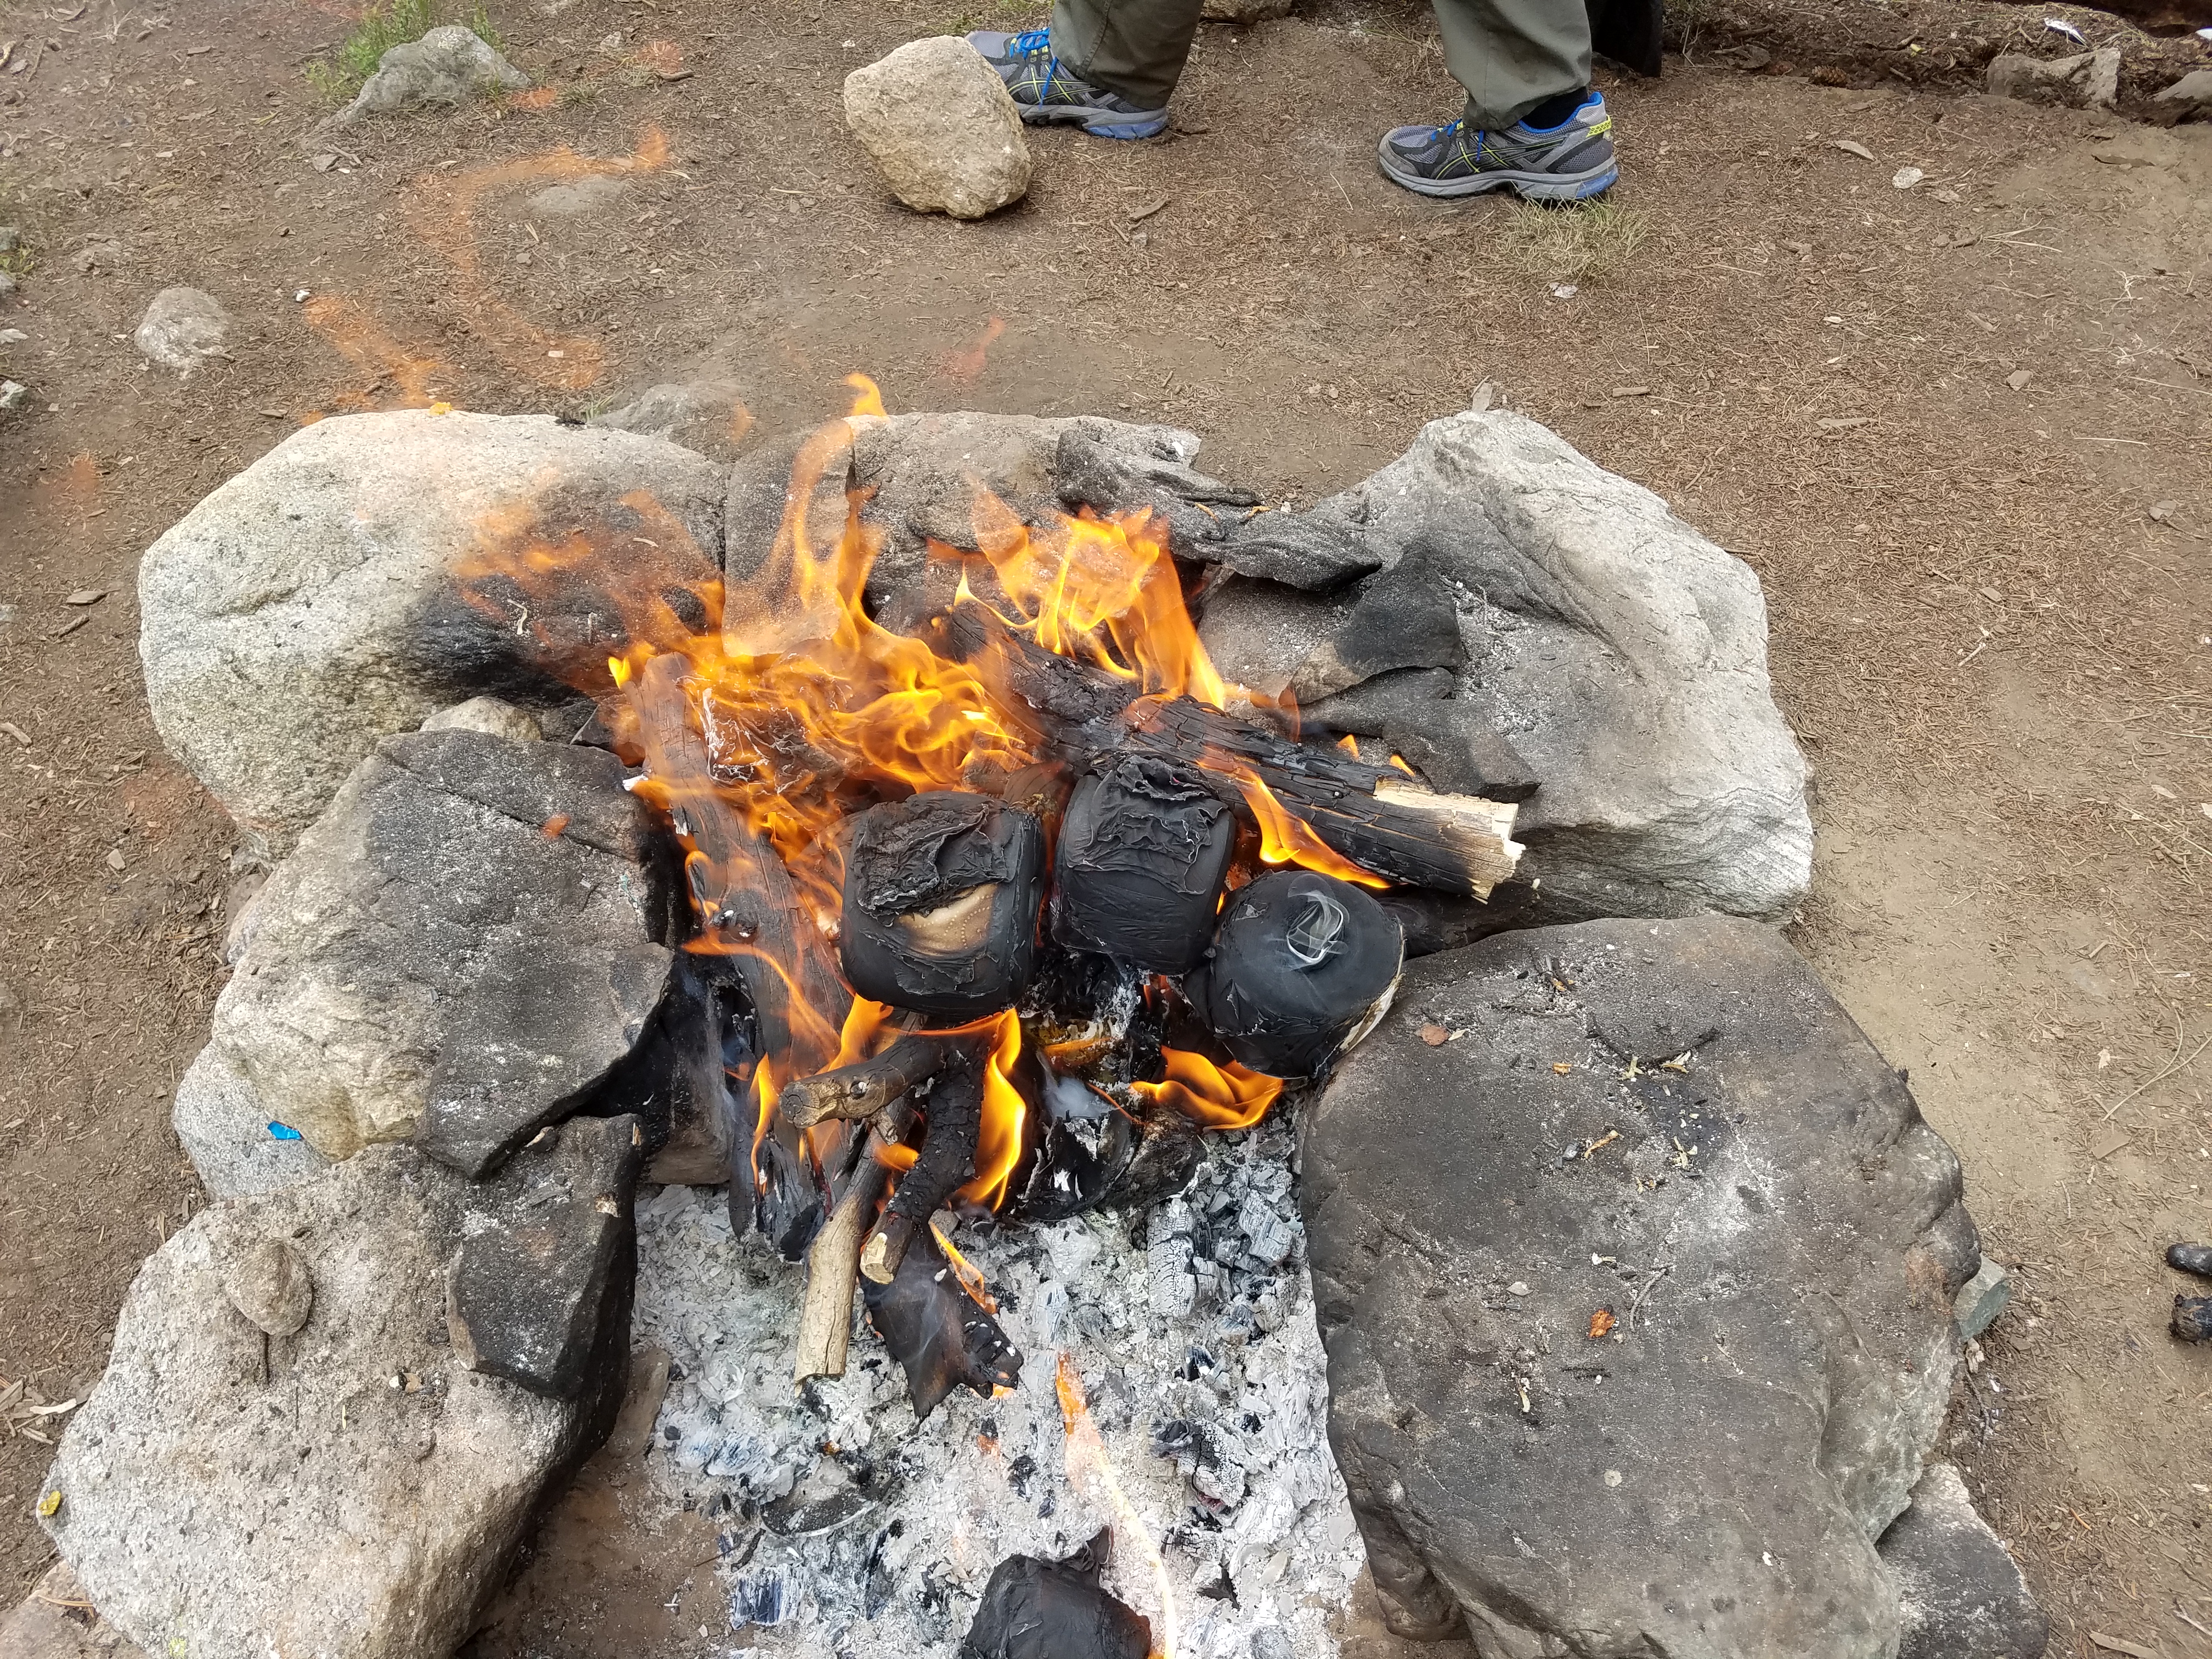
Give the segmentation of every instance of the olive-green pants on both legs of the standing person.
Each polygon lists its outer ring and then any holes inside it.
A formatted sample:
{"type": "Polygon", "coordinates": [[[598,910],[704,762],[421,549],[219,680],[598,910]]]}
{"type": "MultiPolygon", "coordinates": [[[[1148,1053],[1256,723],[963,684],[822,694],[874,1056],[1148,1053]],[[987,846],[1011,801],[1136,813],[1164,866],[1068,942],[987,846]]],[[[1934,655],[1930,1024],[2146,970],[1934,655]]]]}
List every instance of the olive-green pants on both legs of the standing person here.
{"type": "MultiPolygon", "coordinates": [[[[1467,124],[1513,126],[1546,97],[1590,84],[1586,0],[1431,0],[1467,124]]],[[[1055,0],[1053,51],[1093,86],[1166,108],[1203,0],[1055,0]]],[[[1409,117],[1411,119],[1411,117],[1409,117]]]]}

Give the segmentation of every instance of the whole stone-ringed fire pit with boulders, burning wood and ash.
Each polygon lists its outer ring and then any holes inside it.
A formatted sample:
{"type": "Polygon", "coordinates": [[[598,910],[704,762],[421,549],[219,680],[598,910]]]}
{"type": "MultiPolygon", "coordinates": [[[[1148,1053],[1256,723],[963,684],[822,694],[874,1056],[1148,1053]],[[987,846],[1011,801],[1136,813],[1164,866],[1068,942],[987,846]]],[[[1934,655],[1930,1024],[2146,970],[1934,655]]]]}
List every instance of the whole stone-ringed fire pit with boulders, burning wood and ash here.
{"type": "Polygon", "coordinates": [[[148,551],[265,885],[73,1599],[442,1659],[635,1336],[717,1644],[2031,1646],[1929,1462],[1958,1161],[1772,927],[1756,577],[1502,409],[1310,511],[1194,453],[354,416],[148,551]]]}

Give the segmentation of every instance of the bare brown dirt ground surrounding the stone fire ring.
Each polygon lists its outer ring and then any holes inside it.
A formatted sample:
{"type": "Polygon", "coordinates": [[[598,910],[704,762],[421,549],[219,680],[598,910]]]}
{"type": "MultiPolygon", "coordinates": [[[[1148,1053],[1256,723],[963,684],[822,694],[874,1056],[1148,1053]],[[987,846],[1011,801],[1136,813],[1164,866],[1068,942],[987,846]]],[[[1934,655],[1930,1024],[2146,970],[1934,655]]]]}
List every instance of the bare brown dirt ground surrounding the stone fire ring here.
{"type": "MultiPolygon", "coordinates": [[[[1323,0],[1208,29],[1164,142],[1033,137],[1029,199],[960,226],[889,201],[838,82],[1029,13],[491,13],[555,95],[319,137],[341,0],[0,4],[0,374],[31,387],[0,414],[0,1387],[82,1394],[201,1201],[168,1095],[237,838],[155,739],[133,573],[303,418],[723,374],[774,429],[865,369],[894,409],[1175,420],[1305,502],[1489,383],[1765,580],[1818,770],[1792,936],[2022,1281],[1953,1453],[2053,1652],[2212,1655],[2212,1352],[2168,1338],[2159,1261],[2212,1234],[2212,126],[1670,60],[1604,82],[1593,241],[1383,184],[1376,133],[1455,102],[1433,29],[1323,0]],[[595,170],[593,212],[524,212],[595,170]],[[131,345],[170,283],[237,321],[186,383],[131,345]]],[[[0,1604],[51,1559],[51,1431],[0,1440],[0,1604]]],[[[728,1639],[710,1524],[639,1484],[586,1475],[480,1652],[728,1639]]]]}

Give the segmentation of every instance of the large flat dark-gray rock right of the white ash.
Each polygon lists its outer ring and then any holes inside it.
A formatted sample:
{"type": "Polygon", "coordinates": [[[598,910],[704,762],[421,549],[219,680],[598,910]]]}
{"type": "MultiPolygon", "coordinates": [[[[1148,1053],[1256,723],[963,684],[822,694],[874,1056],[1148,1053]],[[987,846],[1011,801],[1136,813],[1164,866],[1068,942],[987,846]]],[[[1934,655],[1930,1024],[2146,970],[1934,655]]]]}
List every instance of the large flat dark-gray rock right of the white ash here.
{"type": "Polygon", "coordinates": [[[1303,1135],[1329,1438],[1402,1628],[1896,1652],[1874,1542],[1978,1243],[1951,1148],[1778,933],[1425,958],[1303,1135]]]}

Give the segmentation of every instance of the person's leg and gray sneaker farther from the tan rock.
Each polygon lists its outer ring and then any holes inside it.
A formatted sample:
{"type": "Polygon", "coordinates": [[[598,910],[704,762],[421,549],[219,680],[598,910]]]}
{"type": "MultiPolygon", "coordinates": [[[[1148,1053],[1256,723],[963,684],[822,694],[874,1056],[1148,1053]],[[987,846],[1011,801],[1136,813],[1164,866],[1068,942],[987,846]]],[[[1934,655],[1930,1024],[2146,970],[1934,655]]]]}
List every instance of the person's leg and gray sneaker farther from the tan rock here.
{"type": "Polygon", "coordinates": [[[1513,190],[1579,201],[1619,179],[1613,117],[1590,91],[1586,0],[1433,0],[1467,113],[1383,135],[1385,177],[1429,197],[1513,190]]]}

